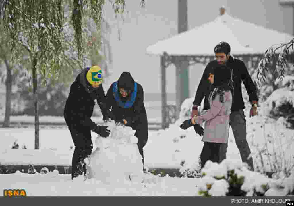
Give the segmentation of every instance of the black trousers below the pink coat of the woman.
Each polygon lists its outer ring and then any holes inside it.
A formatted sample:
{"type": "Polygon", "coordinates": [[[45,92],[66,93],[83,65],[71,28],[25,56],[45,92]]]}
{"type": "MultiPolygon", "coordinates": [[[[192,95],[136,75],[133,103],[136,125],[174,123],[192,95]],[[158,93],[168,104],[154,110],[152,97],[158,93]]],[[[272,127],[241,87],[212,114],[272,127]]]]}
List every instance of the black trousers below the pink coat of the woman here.
{"type": "Polygon", "coordinates": [[[212,162],[220,162],[220,145],[223,143],[215,142],[204,142],[200,159],[201,159],[201,169],[205,166],[208,160],[212,162]]]}

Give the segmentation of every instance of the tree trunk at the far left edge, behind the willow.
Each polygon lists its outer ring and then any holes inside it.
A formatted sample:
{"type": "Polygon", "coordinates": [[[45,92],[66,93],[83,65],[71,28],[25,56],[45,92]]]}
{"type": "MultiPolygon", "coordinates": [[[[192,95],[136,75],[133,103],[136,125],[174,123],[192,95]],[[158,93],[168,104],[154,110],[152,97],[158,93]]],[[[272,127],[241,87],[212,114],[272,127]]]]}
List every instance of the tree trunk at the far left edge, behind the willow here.
{"type": "Polygon", "coordinates": [[[12,91],[12,74],[9,62],[7,59],[4,60],[6,69],[7,69],[7,77],[6,77],[6,104],[5,104],[5,117],[3,122],[3,127],[9,127],[10,125],[10,114],[11,114],[11,91],[12,91]]]}

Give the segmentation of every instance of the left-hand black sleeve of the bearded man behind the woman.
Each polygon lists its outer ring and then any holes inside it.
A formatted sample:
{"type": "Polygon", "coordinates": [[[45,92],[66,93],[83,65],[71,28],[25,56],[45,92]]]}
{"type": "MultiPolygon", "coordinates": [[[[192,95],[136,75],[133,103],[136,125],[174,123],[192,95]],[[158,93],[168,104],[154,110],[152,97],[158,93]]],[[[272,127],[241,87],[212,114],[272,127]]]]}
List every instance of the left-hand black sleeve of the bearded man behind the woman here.
{"type": "Polygon", "coordinates": [[[211,67],[210,64],[207,64],[207,66],[204,69],[202,78],[200,80],[200,83],[198,85],[197,91],[196,91],[196,95],[195,95],[195,99],[193,101],[193,105],[201,105],[201,102],[203,100],[203,98],[205,97],[205,94],[207,92],[207,90],[209,89],[209,82],[208,82],[208,70],[211,67]]]}

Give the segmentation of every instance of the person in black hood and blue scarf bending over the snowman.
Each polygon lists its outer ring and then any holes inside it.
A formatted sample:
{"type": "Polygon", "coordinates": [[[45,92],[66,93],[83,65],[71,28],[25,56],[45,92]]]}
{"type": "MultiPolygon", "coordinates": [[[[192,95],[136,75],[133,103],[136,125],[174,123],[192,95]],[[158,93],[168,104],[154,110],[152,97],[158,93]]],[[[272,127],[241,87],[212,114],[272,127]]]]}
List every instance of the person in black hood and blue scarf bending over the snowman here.
{"type": "Polygon", "coordinates": [[[143,147],[148,140],[148,121],[143,87],[134,81],[130,72],[123,72],[108,89],[105,103],[106,109],[111,107],[113,120],[136,130],[137,145],[144,165],[143,147]]]}

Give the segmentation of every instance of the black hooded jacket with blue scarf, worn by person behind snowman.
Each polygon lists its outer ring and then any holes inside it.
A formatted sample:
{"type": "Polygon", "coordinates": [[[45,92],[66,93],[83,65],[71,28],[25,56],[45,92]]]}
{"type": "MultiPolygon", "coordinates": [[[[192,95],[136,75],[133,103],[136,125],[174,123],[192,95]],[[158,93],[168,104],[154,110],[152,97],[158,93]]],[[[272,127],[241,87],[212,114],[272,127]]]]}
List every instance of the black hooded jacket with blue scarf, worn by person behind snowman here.
{"type": "Polygon", "coordinates": [[[144,92],[141,84],[134,81],[129,72],[123,72],[118,82],[113,82],[106,93],[106,109],[110,109],[117,120],[129,119],[133,124],[133,129],[148,130],[147,114],[144,105],[144,92]],[[136,88],[135,85],[136,84],[136,88]],[[124,89],[131,89],[128,95],[128,105],[123,106],[123,101],[117,85],[126,85],[124,89]],[[136,97],[133,96],[136,93],[136,97]],[[133,98],[132,98],[133,97],[133,98]]]}

